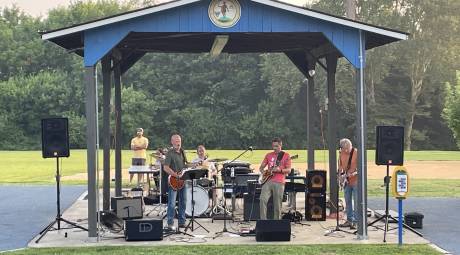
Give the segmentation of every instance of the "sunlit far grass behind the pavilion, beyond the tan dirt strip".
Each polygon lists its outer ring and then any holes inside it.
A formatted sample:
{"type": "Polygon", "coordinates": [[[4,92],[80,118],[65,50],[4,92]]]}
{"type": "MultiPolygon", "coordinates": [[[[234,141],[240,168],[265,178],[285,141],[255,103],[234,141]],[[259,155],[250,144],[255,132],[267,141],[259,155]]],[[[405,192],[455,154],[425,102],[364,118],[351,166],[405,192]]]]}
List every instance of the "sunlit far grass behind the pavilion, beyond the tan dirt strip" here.
{"type": "MultiPolygon", "coordinates": [[[[188,151],[187,157],[192,159],[196,154],[188,151]]],[[[261,162],[268,150],[256,150],[249,152],[241,160],[252,164],[261,162]]],[[[298,154],[299,158],[293,162],[306,162],[305,150],[288,150],[291,155],[298,154]]],[[[241,153],[240,150],[209,150],[210,158],[232,159],[241,153]]],[[[374,160],[374,151],[368,151],[368,160],[374,160]]],[[[123,167],[127,168],[131,162],[131,151],[123,151],[123,167]]],[[[405,160],[460,160],[460,151],[409,151],[405,153],[405,160]]],[[[112,166],[114,153],[111,153],[112,166]]],[[[328,160],[326,151],[316,151],[316,162],[328,160]]],[[[63,176],[84,173],[86,171],[86,151],[71,150],[69,158],[62,158],[61,174],[63,176]]],[[[99,165],[102,168],[102,151],[100,152],[99,165]]],[[[41,151],[0,151],[0,183],[29,183],[50,184],[54,182],[56,169],[55,159],[43,159],[41,151]]]]}

